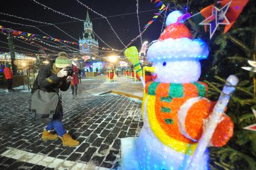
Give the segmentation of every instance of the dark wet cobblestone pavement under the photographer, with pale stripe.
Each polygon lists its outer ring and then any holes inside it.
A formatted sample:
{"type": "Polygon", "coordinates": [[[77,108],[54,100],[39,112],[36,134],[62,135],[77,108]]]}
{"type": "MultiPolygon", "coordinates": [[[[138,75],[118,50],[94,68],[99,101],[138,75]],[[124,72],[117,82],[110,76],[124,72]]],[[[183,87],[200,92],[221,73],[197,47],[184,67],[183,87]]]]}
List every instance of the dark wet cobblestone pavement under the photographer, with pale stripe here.
{"type": "Polygon", "coordinates": [[[70,90],[61,93],[64,128],[81,143],[73,148],[63,147],[60,139],[42,141],[42,130],[48,120],[33,121],[27,116],[30,93],[1,94],[0,169],[82,166],[83,169],[117,169],[120,166],[120,138],[139,133],[143,124],[141,103],[113,94],[93,96],[86,91],[104,80],[83,82],[78,96],[72,96],[70,90]]]}

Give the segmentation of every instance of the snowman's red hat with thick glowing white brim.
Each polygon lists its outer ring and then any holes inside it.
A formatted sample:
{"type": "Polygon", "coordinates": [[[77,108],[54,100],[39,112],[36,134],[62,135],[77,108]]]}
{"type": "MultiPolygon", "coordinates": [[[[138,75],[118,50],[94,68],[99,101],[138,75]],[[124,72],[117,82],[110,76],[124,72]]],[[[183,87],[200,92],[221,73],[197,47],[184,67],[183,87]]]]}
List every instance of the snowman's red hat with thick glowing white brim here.
{"type": "MultiPolygon", "coordinates": [[[[166,23],[170,23],[169,18],[173,20],[172,13],[167,17],[166,23]]],[[[208,53],[207,44],[201,39],[193,40],[187,26],[183,23],[171,22],[158,41],[149,47],[147,58],[151,62],[170,59],[205,59],[208,53]]]]}

